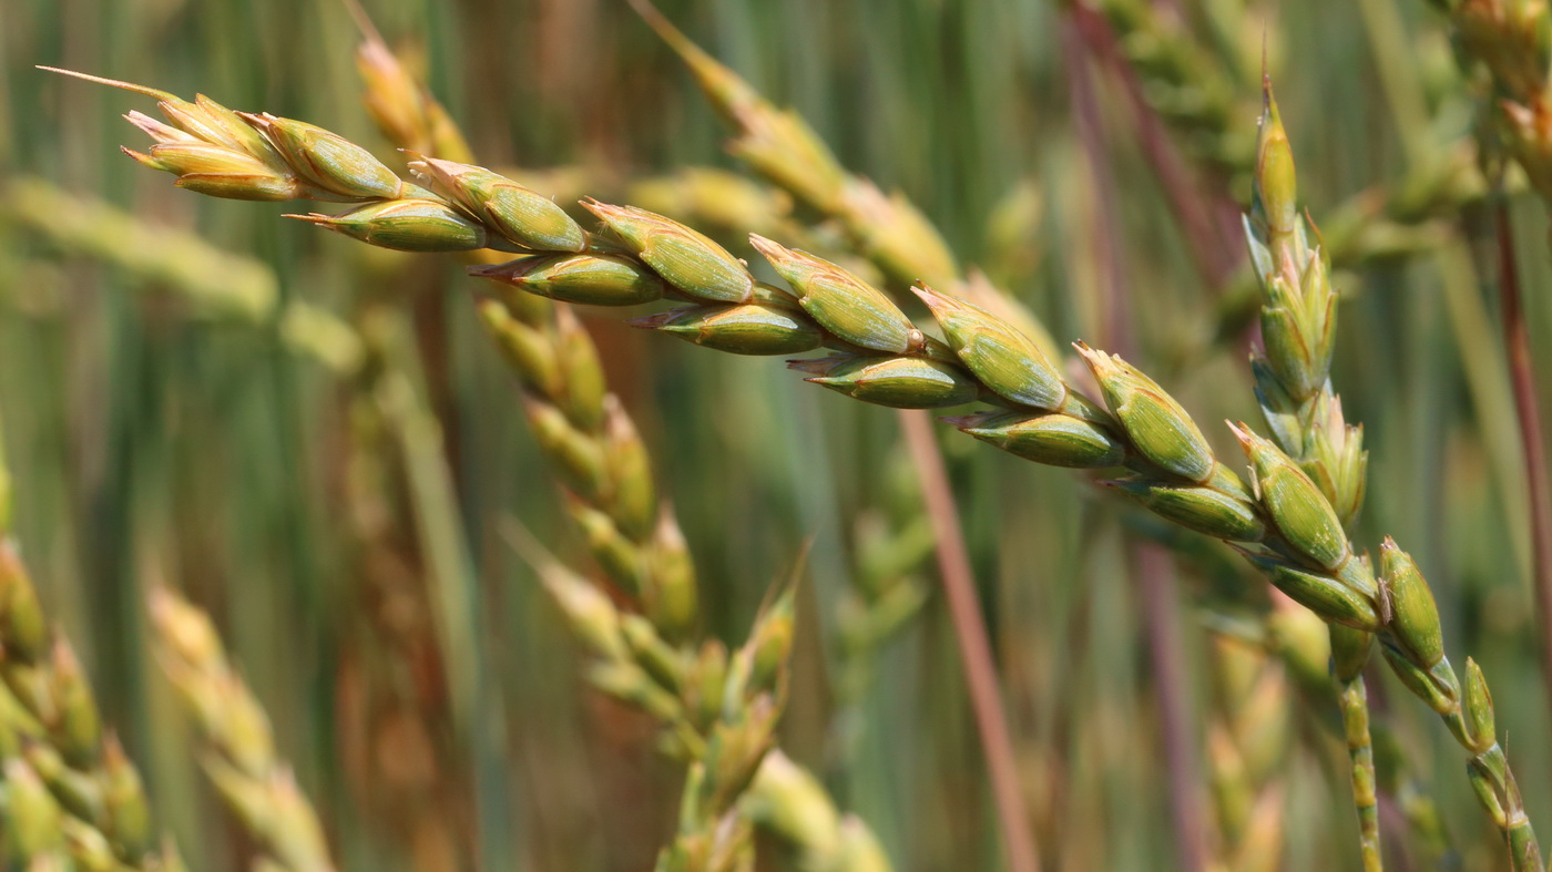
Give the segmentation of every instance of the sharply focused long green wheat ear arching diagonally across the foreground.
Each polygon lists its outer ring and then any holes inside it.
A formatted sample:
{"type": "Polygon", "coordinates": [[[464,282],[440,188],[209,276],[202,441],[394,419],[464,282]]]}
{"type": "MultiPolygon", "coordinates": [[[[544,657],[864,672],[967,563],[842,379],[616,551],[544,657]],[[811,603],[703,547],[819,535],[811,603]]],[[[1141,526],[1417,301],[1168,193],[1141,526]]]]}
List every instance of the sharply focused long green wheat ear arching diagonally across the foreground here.
{"type": "MultiPolygon", "coordinates": [[[[191,106],[171,96],[163,101],[172,116],[191,106]]],[[[1246,487],[1214,456],[1190,416],[1124,360],[1077,343],[1103,391],[1100,407],[1068,385],[1029,338],[925,285],[917,293],[947,341],[930,338],[880,292],[833,264],[767,239],[753,242],[790,290],[757,282],[722,247],[641,209],[585,202],[610,240],[548,213],[529,217],[532,194],[489,171],[416,161],[439,191],[433,192],[399,180],[359,146],[298,121],[223,115],[223,126],[244,124],[262,138],[262,146],[253,146],[241,132],[197,140],[186,129],[133,119],[158,143],[149,155],[133,157],[180,175],[182,186],[239,197],[321,191],[365,202],[341,216],[304,219],[405,250],[520,248],[526,254],[512,264],[473,272],[503,287],[560,299],[616,306],[681,299],[691,306],[643,326],[742,354],[826,344],[838,354],[793,363],[810,382],[903,408],[981,399],[996,408],[954,424],[982,441],[1052,465],[1127,467],[1133,475],[1116,481],[1117,489],[1166,520],[1238,543],[1273,585],[1327,622],[1378,635],[1397,675],[1470,753],[1471,782],[1504,830],[1515,867],[1538,864],[1533,830],[1496,742],[1485,680],[1468,661],[1462,686],[1448,666],[1432,596],[1412,560],[1386,540],[1375,576],[1347,540],[1338,507],[1299,462],[1240,425],[1234,431],[1254,472],[1254,487],[1246,487]],[[199,160],[191,161],[196,143],[199,160]]]]}

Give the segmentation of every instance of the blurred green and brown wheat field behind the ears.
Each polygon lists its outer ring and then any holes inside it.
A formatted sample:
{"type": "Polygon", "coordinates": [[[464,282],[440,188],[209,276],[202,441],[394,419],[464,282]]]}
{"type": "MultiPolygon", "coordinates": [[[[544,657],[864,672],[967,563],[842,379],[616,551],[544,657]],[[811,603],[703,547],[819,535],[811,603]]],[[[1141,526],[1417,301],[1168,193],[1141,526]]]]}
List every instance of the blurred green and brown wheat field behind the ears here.
{"type": "MultiPolygon", "coordinates": [[[[1471,141],[1479,88],[1423,3],[1158,6],[1229,76],[1229,124],[1246,141],[1265,37],[1302,202],[1330,236],[1350,197],[1471,141]]],[[[1063,5],[661,9],[805,116],[847,169],[905,192],[961,262],[1010,289],[1062,344],[1127,335],[1128,360],[1197,420],[1260,420],[1232,281],[1214,287],[1192,261],[1127,81],[1094,57],[1077,62],[1094,92],[1097,138],[1085,135],[1069,57],[1080,37],[1063,5]]],[[[517,168],[557,202],[629,197],[618,202],[715,222],[728,200],[674,202],[695,188],[674,174],[748,175],[683,64],[624,3],[368,11],[421,65],[476,161],[517,168]]],[[[290,206],[177,191],[115,147],[133,141],[124,107],[149,101],[34,68],[310,119],[390,161],[399,155],[362,109],[359,42],[334,3],[0,0],[0,420],[16,538],[189,869],[247,867],[255,844],[200,771],[194,726],[154,653],[144,604],[160,585],[211,613],[341,869],[650,867],[674,833],[684,768],[656,753],[650,717],[588,689],[587,658],[521,545],[532,537],[599,576],[462,262],[307,233],[276,220],[290,206]],[[51,199],[64,196],[78,200],[51,199]],[[82,214],[93,220],[62,220],[82,214]],[[199,268],[178,270],[188,264],[199,268]]],[[[1209,219],[1237,220],[1248,178],[1190,138],[1172,143],[1209,219]]],[[[819,223],[805,230],[816,244],[838,236],[768,186],[715,178],[723,197],[751,197],[715,228],[740,258],[754,262],[747,231],[771,234],[737,225],[760,209],[778,228],[819,223]]],[[[1544,385],[1544,206],[1529,192],[1509,206],[1544,385]]],[[[1536,652],[1549,630],[1530,588],[1491,211],[1465,199],[1412,231],[1422,239],[1395,251],[1370,236],[1378,254],[1338,273],[1333,382],[1370,450],[1356,538],[1395,535],[1425,566],[1450,655],[1470,653],[1491,678],[1526,808],[1547,827],[1552,720],[1536,652]]],[[[1225,275],[1245,261],[1231,239],[1225,275]]],[[[700,632],[736,649],[807,548],[785,754],[866,821],[897,869],[1004,867],[896,417],[771,362],[579,313],[698,565],[700,632]],[[886,593],[894,614],[858,605],[886,593]]],[[[1237,455],[1226,428],[1206,430],[1237,455]]],[[[1082,476],[970,439],[941,447],[1044,867],[1180,866],[1164,689],[1184,706],[1187,787],[1212,867],[1358,869],[1324,655],[1305,673],[1266,655],[1259,576],[1082,476]],[[1155,554],[1178,597],[1147,596],[1135,542],[1169,546],[1155,554]],[[1147,639],[1158,616],[1180,636],[1167,689],[1147,639]],[[1225,776],[1246,771],[1260,773],[1256,796],[1225,776]],[[1225,830],[1249,833],[1251,850],[1229,850],[1225,830]]],[[[1507,869],[1459,746],[1378,658],[1367,678],[1391,866],[1507,869]],[[1412,791],[1437,804],[1442,841],[1409,822],[1412,791]]],[[[798,867],[776,839],[757,847],[759,869],[798,867]]]]}

